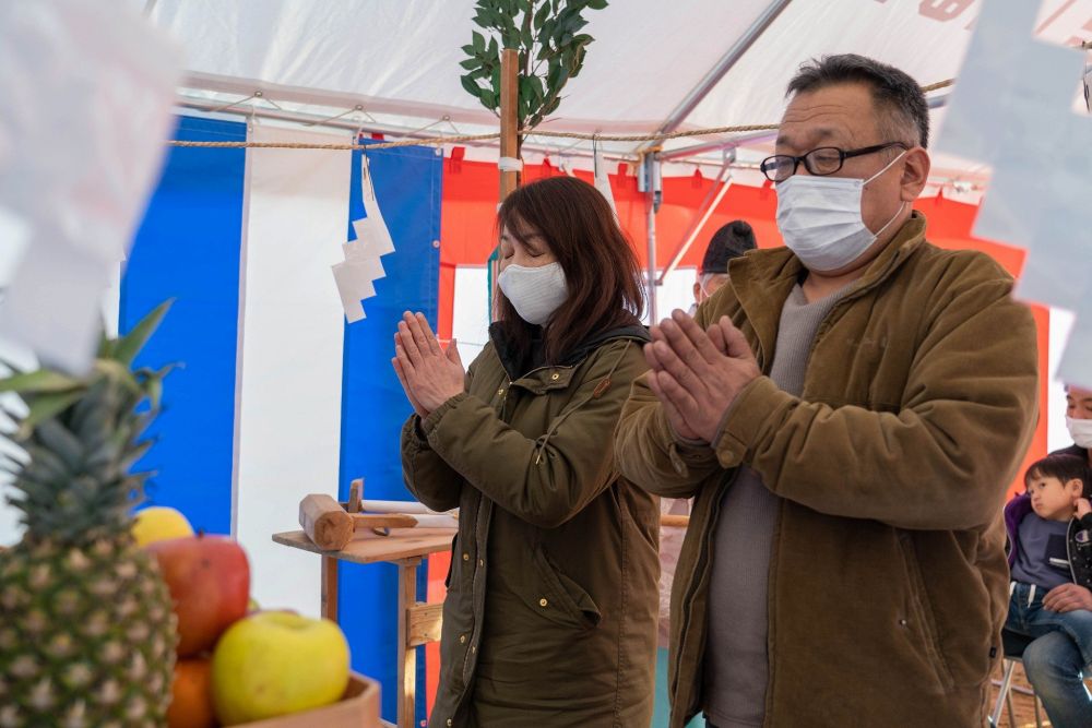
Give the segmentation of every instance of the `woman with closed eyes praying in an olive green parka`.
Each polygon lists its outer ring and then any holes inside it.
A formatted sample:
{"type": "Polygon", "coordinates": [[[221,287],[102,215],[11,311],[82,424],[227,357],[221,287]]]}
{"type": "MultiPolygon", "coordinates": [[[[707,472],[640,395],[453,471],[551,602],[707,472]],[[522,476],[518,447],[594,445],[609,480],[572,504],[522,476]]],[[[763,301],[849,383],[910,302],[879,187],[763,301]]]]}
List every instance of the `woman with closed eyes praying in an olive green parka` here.
{"type": "Polygon", "coordinates": [[[648,726],[660,512],[613,444],[648,369],[641,272],[572,177],[512,192],[498,227],[500,317],[465,380],[420,314],[394,337],[406,485],[460,513],[429,725],[648,726]]]}

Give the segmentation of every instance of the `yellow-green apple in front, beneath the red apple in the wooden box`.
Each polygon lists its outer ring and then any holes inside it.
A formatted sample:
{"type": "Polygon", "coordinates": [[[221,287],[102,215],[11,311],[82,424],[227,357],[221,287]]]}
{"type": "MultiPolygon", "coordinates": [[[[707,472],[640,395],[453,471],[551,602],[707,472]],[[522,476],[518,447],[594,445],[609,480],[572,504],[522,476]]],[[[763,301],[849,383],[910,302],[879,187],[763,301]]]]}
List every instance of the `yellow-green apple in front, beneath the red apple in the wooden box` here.
{"type": "Polygon", "coordinates": [[[348,643],[328,619],[283,611],[233,624],[212,656],[216,717],[230,726],[334,703],[348,684],[348,643]]]}

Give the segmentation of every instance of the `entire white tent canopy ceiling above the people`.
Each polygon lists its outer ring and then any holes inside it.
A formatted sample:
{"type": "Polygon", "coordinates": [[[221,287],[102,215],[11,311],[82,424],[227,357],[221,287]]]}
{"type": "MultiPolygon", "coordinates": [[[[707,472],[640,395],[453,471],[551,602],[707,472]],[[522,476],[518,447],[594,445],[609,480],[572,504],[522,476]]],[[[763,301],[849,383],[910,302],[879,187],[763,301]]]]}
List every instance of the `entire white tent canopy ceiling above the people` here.
{"type": "MultiPolygon", "coordinates": [[[[475,29],[473,0],[144,0],[152,21],[185,48],[183,99],[216,105],[257,89],[264,108],[320,118],[363,114],[392,129],[435,124],[448,134],[495,131],[496,118],[463,91],[461,47],[475,29]],[[361,111],[349,112],[356,106],[361,111]]],[[[799,64],[856,52],[897,65],[919,83],[958,74],[981,0],[614,0],[589,13],[595,41],[542,129],[654,133],[733,48],[738,59],[685,118],[684,130],[775,123],[799,64]],[[669,10],[668,10],[669,8],[669,10]],[[772,16],[760,24],[763,16],[772,16]],[[760,32],[746,44],[752,27],[760,32]]],[[[1075,45],[1092,37],[1092,0],[1044,0],[1035,29],[1075,45]]],[[[1075,93],[1078,80],[1073,80],[1075,93]]],[[[946,91],[936,92],[942,96],[946,91]]],[[[247,104],[256,103],[249,99],[247,104]]],[[[246,110],[247,104],[233,107],[246,110]]],[[[942,102],[934,110],[939,128],[942,102]]],[[[728,136],[673,140],[666,150],[728,136]]],[[[531,142],[542,140],[532,139],[531,142]]],[[[566,142],[566,146],[569,142],[566,142]]],[[[547,146],[557,146],[549,142],[547,146]]],[[[637,143],[605,145],[631,154],[637,143]]],[[[745,143],[741,158],[769,153],[770,135],[745,143]]],[[[717,152],[708,158],[720,158],[717,152]]],[[[980,167],[937,159],[954,176],[980,167]]]]}

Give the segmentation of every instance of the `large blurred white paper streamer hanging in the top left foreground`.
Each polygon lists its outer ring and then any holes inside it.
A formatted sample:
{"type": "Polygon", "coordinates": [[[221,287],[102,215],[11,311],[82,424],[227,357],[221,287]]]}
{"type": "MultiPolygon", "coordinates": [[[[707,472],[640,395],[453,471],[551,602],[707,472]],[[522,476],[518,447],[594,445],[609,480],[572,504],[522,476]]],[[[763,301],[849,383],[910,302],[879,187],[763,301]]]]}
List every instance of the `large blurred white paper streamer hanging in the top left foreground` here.
{"type": "Polygon", "coordinates": [[[29,249],[2,333],[49,365],[92,363],[99,301],[158,177],[181,55],[132,3],[0,2],[0,205],[29,249]],[[80,133],[58,104],[80,109],[80,133]]]}

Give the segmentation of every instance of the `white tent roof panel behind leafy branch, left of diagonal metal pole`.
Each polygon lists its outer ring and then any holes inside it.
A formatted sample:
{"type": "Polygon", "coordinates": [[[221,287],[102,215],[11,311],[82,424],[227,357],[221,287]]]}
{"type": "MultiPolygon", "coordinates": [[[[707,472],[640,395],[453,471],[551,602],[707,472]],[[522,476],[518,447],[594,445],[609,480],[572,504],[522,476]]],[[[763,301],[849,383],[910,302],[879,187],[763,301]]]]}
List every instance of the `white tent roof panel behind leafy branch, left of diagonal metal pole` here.
{"type": "MultiPolygon", "coordinates": [[[[664,91],[681,96],[697,84],[768,1],[688,0],[665,13],[661,0],[616,0],[589,13],[594,51],[566,89],[559,123],[654,129],[678,100],[664,91]]],[[[316,98],[351,95],[369,110],[492,124],[459,83],[460,48],[476,29],[473,9],[466,0],[161,0],[152,20],[182,41],[197,73],[310,89],[316,98]]]]}

